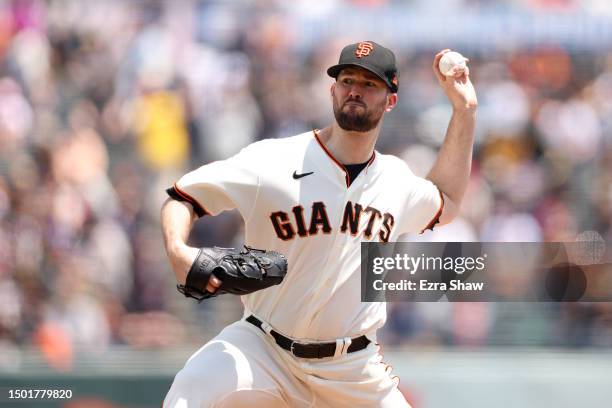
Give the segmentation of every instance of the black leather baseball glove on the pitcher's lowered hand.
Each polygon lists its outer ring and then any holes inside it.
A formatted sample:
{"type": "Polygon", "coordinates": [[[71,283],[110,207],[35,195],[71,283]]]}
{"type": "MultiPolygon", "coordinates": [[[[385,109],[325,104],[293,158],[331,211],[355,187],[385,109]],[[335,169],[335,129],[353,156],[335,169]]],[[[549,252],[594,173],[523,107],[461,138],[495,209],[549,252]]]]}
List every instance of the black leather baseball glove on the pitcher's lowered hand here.
{"type": "Polygon", "coordinates": [[[186,297],[201,302],[225,293],[246,295],[278,285],[286,273],[287,258],[275,251],[246,245],[242,251],[234,248],[201,248],[189,269],[185,285],[177,285],[177,289],[186,297]],[[221,281],[215,293],[206,290],[211,274],[221,281]]]}

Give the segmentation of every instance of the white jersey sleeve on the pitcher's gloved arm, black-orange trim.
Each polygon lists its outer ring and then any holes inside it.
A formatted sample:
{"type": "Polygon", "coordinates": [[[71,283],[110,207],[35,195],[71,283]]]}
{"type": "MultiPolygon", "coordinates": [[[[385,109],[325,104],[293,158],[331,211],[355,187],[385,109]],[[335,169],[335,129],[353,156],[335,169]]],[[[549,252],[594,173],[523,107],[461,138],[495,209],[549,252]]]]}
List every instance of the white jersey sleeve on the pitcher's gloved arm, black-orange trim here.
{"type": "Polygon", "coordinates": [[[170,197],[189,202],[198,216],[237,208],[247,219],[259,189],[257,157],[244,148],[237,155],[206,164],[181,177],[167,190],[170,197]]]}

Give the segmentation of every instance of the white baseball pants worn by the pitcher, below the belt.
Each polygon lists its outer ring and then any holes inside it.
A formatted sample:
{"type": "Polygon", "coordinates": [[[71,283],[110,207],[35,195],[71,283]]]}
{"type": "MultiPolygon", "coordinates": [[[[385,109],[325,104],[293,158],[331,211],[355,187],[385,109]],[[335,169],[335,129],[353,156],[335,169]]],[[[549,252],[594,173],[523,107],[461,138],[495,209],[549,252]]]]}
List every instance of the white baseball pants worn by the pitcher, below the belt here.
{"type": "Polygon", "coordinates": [[[410,408],[379,350],[298,358],[240,320],[187,360],[163,408],[410,408]]]}

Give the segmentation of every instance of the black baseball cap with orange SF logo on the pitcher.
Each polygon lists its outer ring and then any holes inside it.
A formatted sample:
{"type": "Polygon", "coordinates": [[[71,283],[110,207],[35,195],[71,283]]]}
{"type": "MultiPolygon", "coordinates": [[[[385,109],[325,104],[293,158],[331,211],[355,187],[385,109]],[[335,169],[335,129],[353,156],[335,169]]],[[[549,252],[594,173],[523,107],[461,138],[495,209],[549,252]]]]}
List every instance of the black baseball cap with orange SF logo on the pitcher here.
{"type": "Polygon", "coordinates": [[[347,67],[367,69],[385,81],[393,93],[396,93],[399,88],[399,72],[395,63],[395,54],[374,41],[362,41],[344,47],[338,64],[329,67],[327,75],[337,78],[340,71],[347,67]]]}

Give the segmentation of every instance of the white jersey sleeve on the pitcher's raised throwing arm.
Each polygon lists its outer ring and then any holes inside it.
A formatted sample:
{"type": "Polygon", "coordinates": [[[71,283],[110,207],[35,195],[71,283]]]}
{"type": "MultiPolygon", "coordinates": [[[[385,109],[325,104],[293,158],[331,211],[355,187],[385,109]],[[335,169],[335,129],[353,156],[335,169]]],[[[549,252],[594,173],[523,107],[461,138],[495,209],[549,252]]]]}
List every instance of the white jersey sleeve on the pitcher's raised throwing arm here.
{"type": "Polygon", "coordinates": [[[417,177],[408,169],[407,188],[404,197],[404,211],[400,222],[400,234],[407,232],[424,233],[439,222],[444,208],[444,195],[431,181],[417,177]]]}

